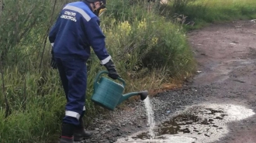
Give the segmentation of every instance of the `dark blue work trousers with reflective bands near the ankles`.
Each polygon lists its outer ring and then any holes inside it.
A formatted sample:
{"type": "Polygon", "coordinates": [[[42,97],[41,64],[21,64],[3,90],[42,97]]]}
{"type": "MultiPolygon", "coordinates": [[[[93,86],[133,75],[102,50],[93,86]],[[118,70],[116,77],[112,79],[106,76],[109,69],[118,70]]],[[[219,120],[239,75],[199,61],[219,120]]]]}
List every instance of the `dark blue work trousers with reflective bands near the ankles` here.
{"type": "Polygon", "coordinates": [[[79,125],[79,119],[85,114],[87,87],[85,60],[73,58],[55,58],[55,60],[67,98],[63,122],[79,125]]]}

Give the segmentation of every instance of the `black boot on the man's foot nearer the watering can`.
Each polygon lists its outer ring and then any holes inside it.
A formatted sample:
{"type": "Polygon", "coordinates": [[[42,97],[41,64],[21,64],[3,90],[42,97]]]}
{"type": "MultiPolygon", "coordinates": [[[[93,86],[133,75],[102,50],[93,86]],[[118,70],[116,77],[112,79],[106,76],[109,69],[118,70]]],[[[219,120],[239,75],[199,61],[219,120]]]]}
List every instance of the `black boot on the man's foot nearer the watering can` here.
{"type": "Polygon", "coordinates": [[[74,129],[74,141],[82,141],[87,138],[92,138],[92,131],[85,131],[84,121],[79,120],[80,124],[74,129]]]}

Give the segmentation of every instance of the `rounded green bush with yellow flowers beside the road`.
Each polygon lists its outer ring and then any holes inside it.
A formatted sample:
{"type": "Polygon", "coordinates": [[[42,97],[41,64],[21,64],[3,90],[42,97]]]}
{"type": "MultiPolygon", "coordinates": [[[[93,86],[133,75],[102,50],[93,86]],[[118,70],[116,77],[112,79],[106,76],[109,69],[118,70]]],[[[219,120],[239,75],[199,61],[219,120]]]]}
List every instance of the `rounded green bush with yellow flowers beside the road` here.
{"type": "Polygon", "coordinates": [[[123,74],[127,70],[138,73],[144,69],[168,69],[168,77],[177,77],[194,70],[195,63],[182,29],[156,19],[148,15],[147,19],[119,22],[106,30],[107,45],[111,45],[110,52],[117,53],[113,55],[123,74]]]}

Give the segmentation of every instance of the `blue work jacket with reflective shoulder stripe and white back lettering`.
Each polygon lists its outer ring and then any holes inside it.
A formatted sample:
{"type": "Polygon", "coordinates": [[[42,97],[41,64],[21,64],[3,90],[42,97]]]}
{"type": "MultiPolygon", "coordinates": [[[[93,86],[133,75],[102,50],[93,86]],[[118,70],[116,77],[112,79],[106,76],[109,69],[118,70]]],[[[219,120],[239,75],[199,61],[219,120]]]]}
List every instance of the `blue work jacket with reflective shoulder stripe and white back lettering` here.
{"type": "Polygon", "coordinates": [[[85,2],[65,5],[49,33],[54,56],[81,58],[86,61],[92,46],[102,64],[109,62],[111,56],[106,50],[105,36],[99,23],[98,16],[85,2]]]}

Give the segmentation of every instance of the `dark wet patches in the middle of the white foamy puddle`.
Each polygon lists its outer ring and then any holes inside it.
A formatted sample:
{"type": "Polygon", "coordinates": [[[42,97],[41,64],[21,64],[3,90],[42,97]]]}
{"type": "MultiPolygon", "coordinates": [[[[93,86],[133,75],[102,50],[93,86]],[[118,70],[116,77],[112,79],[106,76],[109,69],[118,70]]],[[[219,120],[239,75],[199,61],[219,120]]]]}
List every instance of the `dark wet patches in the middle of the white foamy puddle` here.
{"type": "MultiPolygon", "coordinates": [[[[199,117],[195,114],[189,114],[189,113],[178,114],[177,116],[171,118],[170,121],[164,121],[163,123],[159,124],[157,128],[154,130],[155,135],[157,137],[161,137],[162,134],[180,134],[180,133],[192,133],[192,132],[197,132],[198,134],[202,134],[200,133],[199,129],[196,128],[196,126],[199,127],[200,124],[202,125],[211,124],[213,128],[219,128],[219,126],[215,125],[214,120],[223,120],[223,117],[227,116],[227,114],[224,114],[223,111],[216,110],[213,108],[204,108],[203,110],[200,110],[198,112],[199,114],[206,114],[208,118],[203,118],[202,115],[200,115],[199,117]],[[212,115],[212,117],[209,118],[209,115],[212,115]],[[189,126],[192,126],[193,128],[191,129],[189,128],[189,126]]],[[[150,134],[148,134],[148,132],[144,132],[132,138],[150,139],[149,137],[150,137],[150,134]]],[[[164,138],[158,138],[158,139],[164,139],[164,138]]]]}

